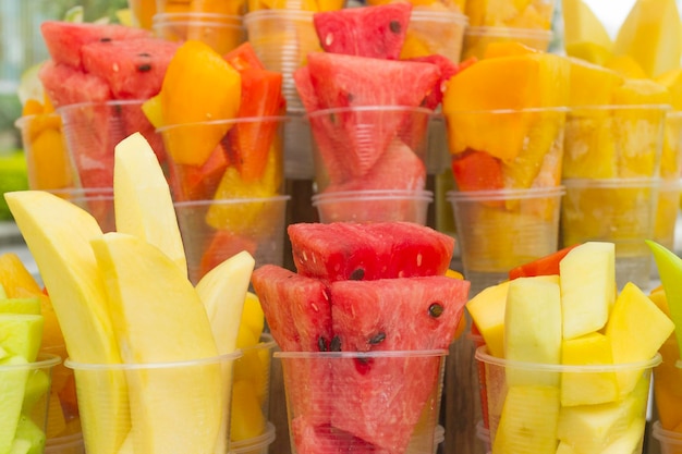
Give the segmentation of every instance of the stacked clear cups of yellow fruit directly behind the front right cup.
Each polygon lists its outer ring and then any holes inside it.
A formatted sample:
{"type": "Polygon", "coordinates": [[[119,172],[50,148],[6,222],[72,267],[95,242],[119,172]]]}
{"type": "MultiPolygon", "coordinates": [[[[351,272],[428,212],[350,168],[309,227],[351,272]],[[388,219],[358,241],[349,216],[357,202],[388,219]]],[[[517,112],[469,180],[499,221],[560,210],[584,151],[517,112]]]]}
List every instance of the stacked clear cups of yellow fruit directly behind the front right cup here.
{"type": "Polygon", "coordinates": [[[670,150],[670,176],[661,179],[668,110],[665,105],[574,107],[567,118],[562,245],[614,243],[619,289],[628,282],[649,287],[651,254],[645,240],[657,229],[674,232],[677,213],[666,214],[668,225],[657,222],[661,187],[671,185],[677,197],[679,177],[678,151],[670,150]]]}

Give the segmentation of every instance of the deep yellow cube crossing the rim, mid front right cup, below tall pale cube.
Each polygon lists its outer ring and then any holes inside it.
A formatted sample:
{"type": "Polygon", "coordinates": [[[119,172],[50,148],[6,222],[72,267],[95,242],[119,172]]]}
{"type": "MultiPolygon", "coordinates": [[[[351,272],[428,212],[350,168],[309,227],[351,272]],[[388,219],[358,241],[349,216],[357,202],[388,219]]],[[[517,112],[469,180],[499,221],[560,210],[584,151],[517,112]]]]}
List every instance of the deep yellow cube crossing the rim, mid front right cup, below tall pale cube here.
{"type": "MultiPolygon", "coordinates": [[[[561,363],[567,366],[613,364],[611,344],[598,332],[563,341],[561,363]]],[[[562,372],[561,405],[601,404],[618,398],[618,383],[612,371],[562,372]]]]}

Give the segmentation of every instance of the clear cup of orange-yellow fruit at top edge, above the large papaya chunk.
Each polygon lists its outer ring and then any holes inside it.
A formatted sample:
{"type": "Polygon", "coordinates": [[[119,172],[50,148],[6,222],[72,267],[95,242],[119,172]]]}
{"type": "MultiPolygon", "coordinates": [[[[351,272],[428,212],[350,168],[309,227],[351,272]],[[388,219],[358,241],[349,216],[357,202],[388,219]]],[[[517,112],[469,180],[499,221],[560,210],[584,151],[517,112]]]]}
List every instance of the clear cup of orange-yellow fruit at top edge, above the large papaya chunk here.
{"type": "Polygon", "coordinates": [[[484,58],[491,42],[521,42],[537,50],[548,50],[552,38],[555,1],[532,0],[499,3],[468,0],[468,28],[464,34],[462,59],[484,58]],[[511,10],[511,11],[510,11],[511,10]]]}

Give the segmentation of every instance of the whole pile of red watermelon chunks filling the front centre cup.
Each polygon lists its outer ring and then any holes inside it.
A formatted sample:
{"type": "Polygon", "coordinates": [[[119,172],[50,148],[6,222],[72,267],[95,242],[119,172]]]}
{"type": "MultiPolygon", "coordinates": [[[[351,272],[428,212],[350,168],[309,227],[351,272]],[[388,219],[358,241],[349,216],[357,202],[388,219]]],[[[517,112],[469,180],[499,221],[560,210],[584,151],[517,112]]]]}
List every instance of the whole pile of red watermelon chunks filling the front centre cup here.
{"type": "MultiPolygon", "coordinates": [[[[451,249],[436,247],[441,235],[401,223],[291,225],[294,256],[306,258],[297,262],[299,273],[268,265],[256,269],[252,279],[275,340],[284,352],[416,354],[447,348],[468,283],[446,277],[439,265],[414,268],[423,259],[449,263],[451,249]],[[366,243],[372,237],[380,237],[380,244],[366,243]],[[439,249],[436,255],[442,260],[429,254],[426,244],[439,249]],[[329,263],[329,271],[304,268],[318,260],[329,263]],[[372,268],[372,262],[393,267],[372,268]],[[332,263],[343,270],[341,274],[332,263]]],[[[349,358],[332,363],[333,367],[324,358],[321,363],[296,359],[285,380],[288,398],[296,408],[291,427],[297,451],[361,446],[404,451],[418,430],[415,426],[425,403],[431,402],[438,376],[438,364],[418,356],[349,358]],[[423,371],[418,379],[406,377],[413,367],[423,371]],[[313,382],[314,386],[307,385],[313,382]],[[401,390],[400,398],[387,403],[377,388],[388,394],[401,390]],[[358,412],[363,417],[357,417],[358,412]]]]}

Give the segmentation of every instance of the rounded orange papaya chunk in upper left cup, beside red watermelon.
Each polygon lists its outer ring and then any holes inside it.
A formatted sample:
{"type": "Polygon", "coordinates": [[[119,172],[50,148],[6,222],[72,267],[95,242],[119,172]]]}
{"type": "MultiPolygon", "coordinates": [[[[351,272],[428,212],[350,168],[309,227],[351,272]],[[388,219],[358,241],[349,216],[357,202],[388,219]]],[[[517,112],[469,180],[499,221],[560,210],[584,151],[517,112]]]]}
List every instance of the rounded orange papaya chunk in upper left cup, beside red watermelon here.
{"type": "Polygon", "coordinates": [[[230,123],[173,127],[231,120],[242,96],[240,73],[200,41],[185,41],[168,65],[160,91],[166,150],[181,164],[200,165],[230,128],[230,123]]]}

